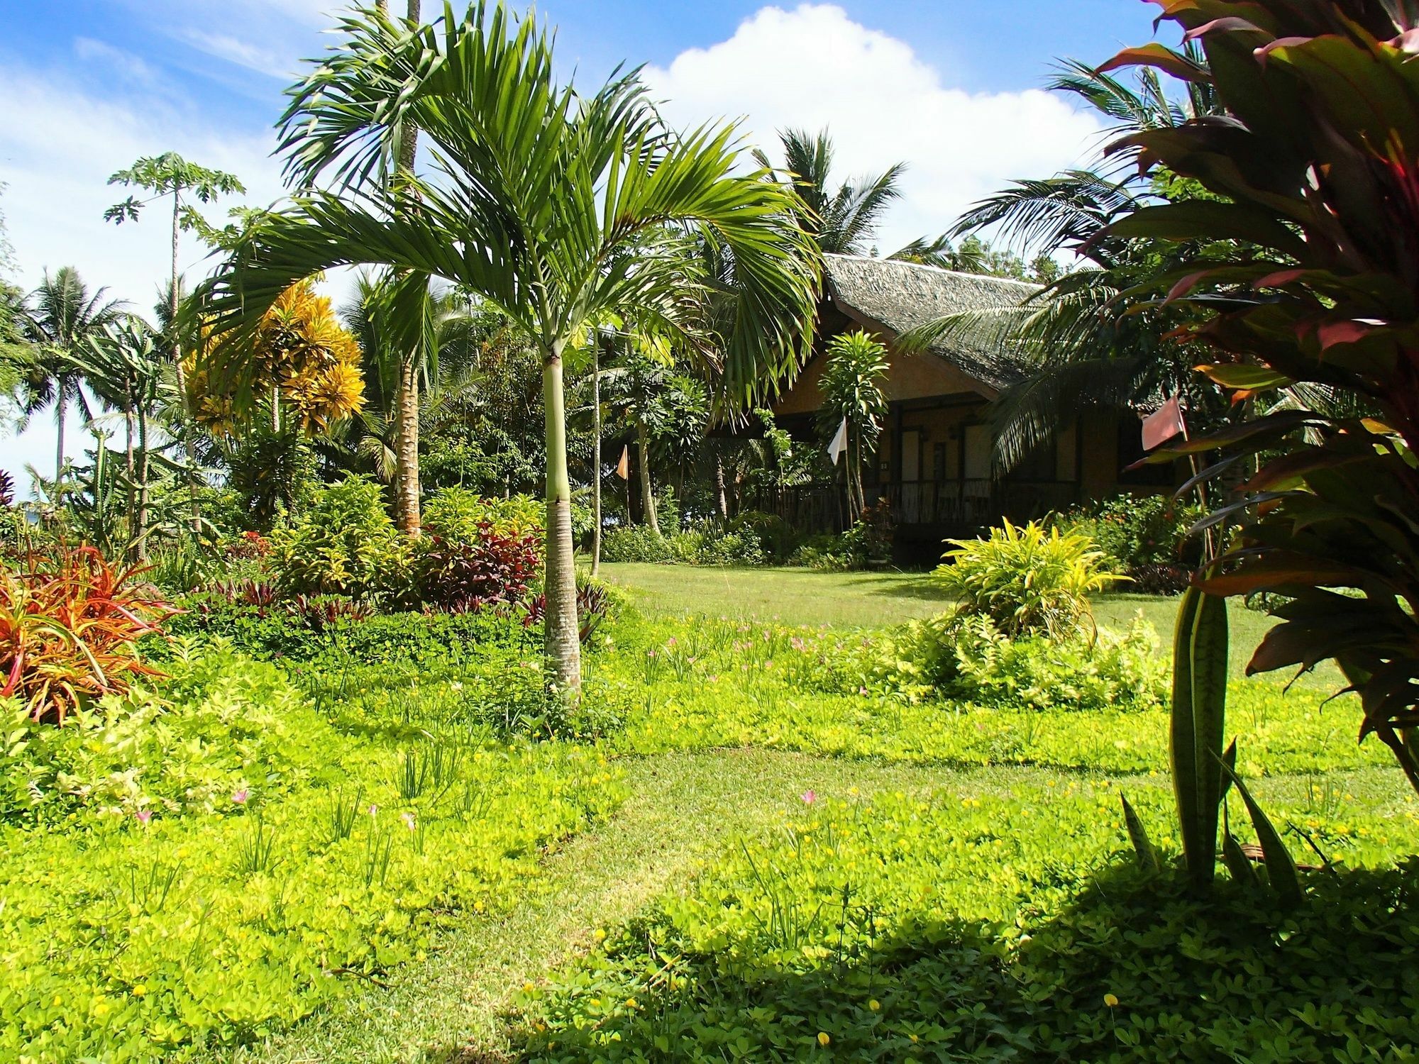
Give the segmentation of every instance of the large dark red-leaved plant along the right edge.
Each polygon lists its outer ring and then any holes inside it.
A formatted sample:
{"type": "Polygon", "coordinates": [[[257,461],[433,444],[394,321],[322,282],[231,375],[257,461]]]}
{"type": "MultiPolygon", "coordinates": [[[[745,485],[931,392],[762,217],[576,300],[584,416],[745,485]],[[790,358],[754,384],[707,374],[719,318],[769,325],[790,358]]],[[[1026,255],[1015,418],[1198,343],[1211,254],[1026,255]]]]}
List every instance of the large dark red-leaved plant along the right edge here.
{"type": "Polygon", "coordinates": [[[1172,451],[1243,481],[1212,516],[1242,535],[1199,583],[1274,593],[1249,671],[1334,660],[1361,739],[1419,789],[1419,0],[1156,1],[1206,64],[1151,44],[1105,70],[1210,81],[1227,113],[1114,145],[1210,196],[1112,233],[1200,248],[1151,287],[1195,311],[1188,335],[1218,352],[1200,369],[1260,411],[1172,451]]]}

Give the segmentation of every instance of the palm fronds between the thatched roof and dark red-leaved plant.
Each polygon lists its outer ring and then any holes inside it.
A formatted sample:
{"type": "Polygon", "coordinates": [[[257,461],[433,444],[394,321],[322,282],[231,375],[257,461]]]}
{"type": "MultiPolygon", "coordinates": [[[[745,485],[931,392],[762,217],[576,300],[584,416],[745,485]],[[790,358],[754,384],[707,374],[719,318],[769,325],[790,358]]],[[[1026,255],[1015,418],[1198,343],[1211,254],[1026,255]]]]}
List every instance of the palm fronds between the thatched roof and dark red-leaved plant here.
{"type": "MultiPolygon", "coordinates": [[[[1202,52],[1193,45],[1178,52],[1176,61],[1205,72],[1202,52]]],[[[1205,81],[1188,82],[1179,102],[1152,68],[1131,87],[1083,62],[1066,61],[1050,88],[1078,96],[1110,119],[1110,139],[1218,113],[1216,96],[1205,81]]],[[[1130,294],[1142,279],[1181,262],[1179,250],[1105,234],[1107,227],[1149,203],[1188,194],[1186,187],[1139,179],[1131,159],[1100,157],[1091,167],[1012,183],[976,203],[948,234],[969,240],[990,230],[1043,258],[1067,251],[1081,260],[1020,306],[951,315],[902,338],[908,348],[925,348],[971,336],[1027,367],[992,407],[999,468],[1017,465],[1081,410],[1121,409],[1166,394],[1186,396],[1193,409],[1210,401],[1191,372],[1196,352],[1165,339],[1181,318],[1165,306],[1145,306],[1130,294]]]]}

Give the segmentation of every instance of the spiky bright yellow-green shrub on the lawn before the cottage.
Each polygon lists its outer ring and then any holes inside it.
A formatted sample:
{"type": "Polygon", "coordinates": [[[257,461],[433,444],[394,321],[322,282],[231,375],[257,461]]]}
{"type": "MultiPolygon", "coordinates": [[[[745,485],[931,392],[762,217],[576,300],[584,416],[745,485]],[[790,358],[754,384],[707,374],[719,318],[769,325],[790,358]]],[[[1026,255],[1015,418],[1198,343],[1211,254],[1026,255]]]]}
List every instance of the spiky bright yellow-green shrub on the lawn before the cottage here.
{"type": "Polygon", "coordinates": [[[1007,636],[1063,636],[1088,616],[1087,596],[1120,577],[1104,570],[1104,555],[1081,535],[1046,531],[1033,521],[1006,519],[988,539],[949,539],[937,569],[962,610],[990,617],[1007,636]]]}

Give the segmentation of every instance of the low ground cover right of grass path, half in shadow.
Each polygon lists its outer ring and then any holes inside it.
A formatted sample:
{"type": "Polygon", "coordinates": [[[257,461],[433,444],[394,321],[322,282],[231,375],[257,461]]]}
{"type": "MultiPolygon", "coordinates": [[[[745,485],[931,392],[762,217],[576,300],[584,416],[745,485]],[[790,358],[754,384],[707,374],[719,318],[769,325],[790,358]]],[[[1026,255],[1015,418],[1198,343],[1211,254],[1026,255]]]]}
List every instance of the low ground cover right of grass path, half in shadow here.
{"type": "MultiPolygon", "coordinates": [[[[1419,1047],[1412,867],[1313,877],[1321,897],[1291,915],[1243,887],[1203,907],[1117,861],[1107,782],[1049,785],[805,793],[771,840],[526,987],[522,1053],[1162,1064],[1419,1047]]],[[[1138,797],[1152,819],[1161,796],[1138,797]]]]}

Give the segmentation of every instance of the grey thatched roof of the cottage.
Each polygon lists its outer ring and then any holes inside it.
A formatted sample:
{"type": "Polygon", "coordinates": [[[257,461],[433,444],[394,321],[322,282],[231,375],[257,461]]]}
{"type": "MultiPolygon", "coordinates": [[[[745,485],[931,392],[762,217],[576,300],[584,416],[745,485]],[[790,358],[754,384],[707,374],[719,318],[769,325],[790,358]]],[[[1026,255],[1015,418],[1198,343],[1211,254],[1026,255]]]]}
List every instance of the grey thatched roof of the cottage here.
{"type": "MultiPolygon", "coordinates": [[[[937,318],[1017,306],[1039,291],[1025,281],[898,262],[866,255],[824,255],[827,297],[847,316],[901,335],[937,318]]],[[[1019,366],[986,336],[954,336],[931,352],[992,389],[1019,380],[1019,366]]]]}

